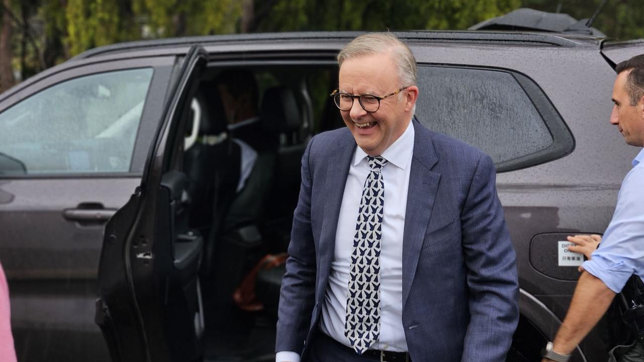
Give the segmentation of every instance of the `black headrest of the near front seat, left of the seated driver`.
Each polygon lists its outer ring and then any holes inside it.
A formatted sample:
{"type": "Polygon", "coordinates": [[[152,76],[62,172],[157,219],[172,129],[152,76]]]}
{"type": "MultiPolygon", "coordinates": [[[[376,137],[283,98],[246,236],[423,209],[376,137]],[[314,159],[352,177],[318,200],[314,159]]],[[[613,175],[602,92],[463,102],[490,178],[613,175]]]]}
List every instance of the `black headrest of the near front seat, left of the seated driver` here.
{"type": "Polygon", "coordinates": [[[227,130],[226,114],[223,111],[222,97],[216,82],[202,82],[197,89],[202,117],[199,123],[200,135],[218,135],[227,130]]]}

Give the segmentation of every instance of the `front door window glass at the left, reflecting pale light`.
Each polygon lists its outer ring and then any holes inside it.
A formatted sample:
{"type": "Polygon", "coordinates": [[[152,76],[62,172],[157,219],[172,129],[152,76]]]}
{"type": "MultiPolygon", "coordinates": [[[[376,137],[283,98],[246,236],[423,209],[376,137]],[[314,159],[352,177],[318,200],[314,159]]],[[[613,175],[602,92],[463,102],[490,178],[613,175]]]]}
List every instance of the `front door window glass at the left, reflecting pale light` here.
{"type": "Polygon", "coordinates": [[[71,79],[0,113],[0,175],[127,173],[152,68],[71,79]]]}

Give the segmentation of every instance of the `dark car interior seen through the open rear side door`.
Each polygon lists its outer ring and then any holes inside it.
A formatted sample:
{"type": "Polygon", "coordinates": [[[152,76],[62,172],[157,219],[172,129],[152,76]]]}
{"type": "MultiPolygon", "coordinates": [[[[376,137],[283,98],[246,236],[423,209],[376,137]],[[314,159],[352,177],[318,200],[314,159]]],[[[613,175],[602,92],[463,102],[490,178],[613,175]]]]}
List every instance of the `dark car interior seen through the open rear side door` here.
{"type": "Polygon", "coordinates": [[[189,224],[204,238],[199,280],[207,361],[274,360],[301,157],[312,135],[344,126],[328,96],[336,87],[334,66],[213,67],[200,75],[185,112],[182,172],[189,179],[189,224]],[[218,81],[224,72],[252,73],[254,80],[238,76],[256,82],[245,84],[258,93],[252,137],[271,141],[254,150],[242,184],[245,150],[228,124],[218,81]]]}

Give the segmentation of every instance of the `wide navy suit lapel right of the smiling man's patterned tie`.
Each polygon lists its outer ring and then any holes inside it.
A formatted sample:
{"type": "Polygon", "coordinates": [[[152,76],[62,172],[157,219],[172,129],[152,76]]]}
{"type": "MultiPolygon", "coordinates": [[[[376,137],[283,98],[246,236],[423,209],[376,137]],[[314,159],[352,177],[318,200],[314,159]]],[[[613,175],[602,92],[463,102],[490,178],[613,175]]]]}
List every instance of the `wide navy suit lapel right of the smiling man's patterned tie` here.
{"type": "Polygon", "coordinates": [[[403,233],[403,307],[412,288],[440,180],[440,174],[431,171],[438,162],[431,133],[417,121],[412,122],[415,135],[403,233]]]}

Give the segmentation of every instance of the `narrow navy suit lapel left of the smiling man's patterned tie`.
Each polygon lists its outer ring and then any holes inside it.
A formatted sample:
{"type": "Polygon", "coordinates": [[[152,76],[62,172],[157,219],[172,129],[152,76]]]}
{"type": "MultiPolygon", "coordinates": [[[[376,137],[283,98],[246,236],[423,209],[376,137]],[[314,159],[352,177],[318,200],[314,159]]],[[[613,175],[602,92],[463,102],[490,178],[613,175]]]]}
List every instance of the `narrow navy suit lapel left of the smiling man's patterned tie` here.
{"type": "MultiPolygon", "coordinates": [[[[325,199],[322,229],[319,240],[319,263],[321,281],[318,288],[326,288],[328,274],[331,269],[336,250],[337,220],[340,214],[340,206],[345,193],[346,177],[354,156],[355,140],[346,129],[346,133],[338,140],[337,148],[332,149],[332,154],[327,157],[327,175],[325,178],[325,199]]],[[[320,292],[318,296],[324,296],[320,292]]]]}

